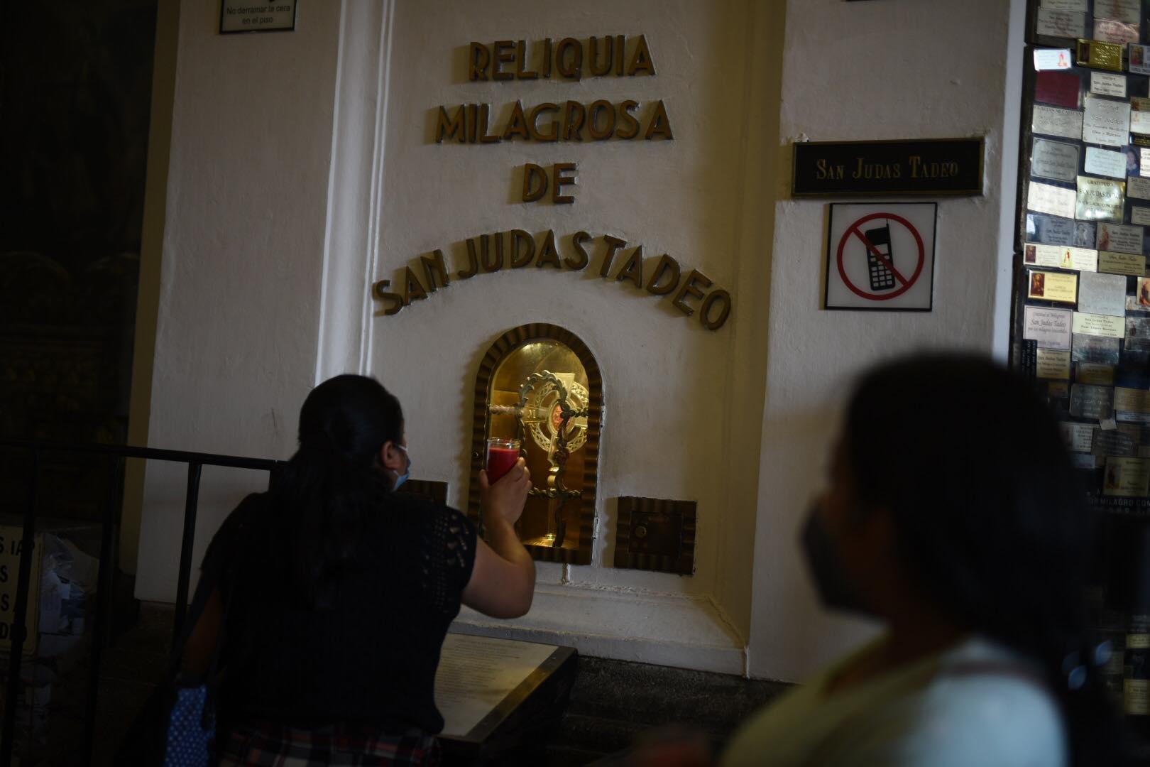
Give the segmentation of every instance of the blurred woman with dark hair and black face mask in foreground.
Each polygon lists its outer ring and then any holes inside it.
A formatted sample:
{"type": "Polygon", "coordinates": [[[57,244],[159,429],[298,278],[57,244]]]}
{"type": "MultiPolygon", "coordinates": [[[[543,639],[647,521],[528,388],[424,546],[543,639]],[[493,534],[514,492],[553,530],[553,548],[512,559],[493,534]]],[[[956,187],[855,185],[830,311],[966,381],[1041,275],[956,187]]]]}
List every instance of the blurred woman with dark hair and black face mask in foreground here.
{"type": "Polygon", "coordinates": [[[1082,498],[1055,417],[989,360],[866,375],[803,544],[822,601],[887,630],[752,718],[722,764],[1122,764],[1083,624],[1082,498]]]}

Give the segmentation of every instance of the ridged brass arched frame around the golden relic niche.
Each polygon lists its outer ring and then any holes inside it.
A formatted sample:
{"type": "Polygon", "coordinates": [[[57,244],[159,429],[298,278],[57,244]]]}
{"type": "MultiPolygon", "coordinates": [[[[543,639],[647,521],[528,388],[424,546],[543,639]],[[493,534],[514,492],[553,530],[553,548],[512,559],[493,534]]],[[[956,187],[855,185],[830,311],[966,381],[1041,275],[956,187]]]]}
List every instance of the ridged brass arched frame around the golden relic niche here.
{"type": "Polygon", "coordinates": [[[475,376],[475,411],[471,425],[471,476],[467,491],[467,515],[480,522],[480,469],[486,451],[491,386],[499,363],[523,344],[538,340],[554,340],[564,344],[578,358],[586,371],[588,407],[586,407],[586,442],[583,445],[584,469],[583,488],[578,507],[578,547],[554,549],[550,546],[527,546],[531,557],[547,562],[567,562],[568,565],[590,565],[591,544],[595,537],[595,500],[599,475],[599,431],[603,425],[603,376],[595,356],[578,336],[559,325],[531,323],[520,325],[501,335],[480,362],[475,376]]]}

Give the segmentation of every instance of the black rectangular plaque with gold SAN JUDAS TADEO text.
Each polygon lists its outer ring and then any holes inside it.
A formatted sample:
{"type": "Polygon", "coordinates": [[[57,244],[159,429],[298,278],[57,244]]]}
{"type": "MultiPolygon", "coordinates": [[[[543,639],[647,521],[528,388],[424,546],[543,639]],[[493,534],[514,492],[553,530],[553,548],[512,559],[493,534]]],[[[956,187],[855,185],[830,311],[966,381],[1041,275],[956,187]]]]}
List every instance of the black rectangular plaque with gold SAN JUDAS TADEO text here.
{"type": "Polygon", "coordinates": [[[792,197],[982,194],[983,139],[799,141],[792,197]]]}

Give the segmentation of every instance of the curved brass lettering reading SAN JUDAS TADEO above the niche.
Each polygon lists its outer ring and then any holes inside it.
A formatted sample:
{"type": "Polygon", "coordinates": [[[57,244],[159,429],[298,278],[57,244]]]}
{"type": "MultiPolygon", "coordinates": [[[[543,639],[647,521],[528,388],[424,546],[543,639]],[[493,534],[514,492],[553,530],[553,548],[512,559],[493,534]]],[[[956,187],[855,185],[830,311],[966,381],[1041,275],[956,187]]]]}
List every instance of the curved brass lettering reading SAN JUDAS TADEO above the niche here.
{"type": "Polygon", "coordinates": [[[552,230],[544,232],[542,243],[536,243],[530,232],[513,229],[471,237],[465,245],[466,263],[455,273],[448,270],[443,251],[437,248],[431,255],[420,256],[415,268],[405,267],[397,285],[401,286],[400,291],[389,290],[392,285],[390,279],[376,282],[371,294],[383,304],[376,316],[399,314],[413,301],[423,300],[436,290],[446,287],[452,279],[470,279],[478,274],[532,266],[549,271],[581,271],[595,261],[604,279],[630,283],[638,291],[667,297],[672,306],[685,316],[697,313],[707,330],[719,330],[730,319],[729,291],[715,287],[698,269],[684,274],[678,261],[666,253],[658,259],[644,259],[642,244],[630,246],[630,254],[627,255],[627,240],[612,235],[592,237],[585,231],[577,231],[570,236],[569,247],[562,252],[552,230]],[[417,270],[422,271],[422,278],[417,270]]]}

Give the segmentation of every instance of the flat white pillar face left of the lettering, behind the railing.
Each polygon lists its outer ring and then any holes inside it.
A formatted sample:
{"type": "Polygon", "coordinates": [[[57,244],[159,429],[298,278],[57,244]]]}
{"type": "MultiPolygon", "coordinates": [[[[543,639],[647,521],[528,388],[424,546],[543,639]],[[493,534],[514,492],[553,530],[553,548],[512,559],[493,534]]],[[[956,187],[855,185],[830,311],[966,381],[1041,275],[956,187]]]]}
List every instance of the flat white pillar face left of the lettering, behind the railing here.
{"type": "MultiPolygon", "coordinates": [[[[181,3],[150,446],[284,458],[313,384],[338,3],[290,33],[216,33],[181,3]]],[[[133,412],[136,412],[133,409],[133,412]]],[[[264,476],[205,469],[194,561],[264,476]]],[[[182,466],[151,462],[137,596],[172,601],[182,466]]]]}

